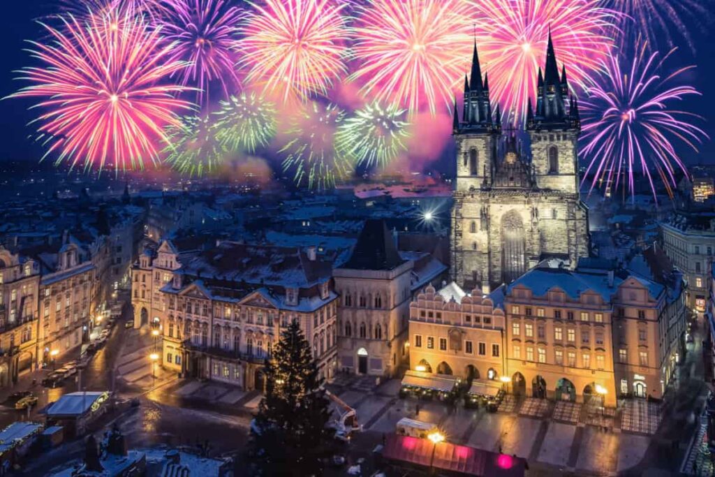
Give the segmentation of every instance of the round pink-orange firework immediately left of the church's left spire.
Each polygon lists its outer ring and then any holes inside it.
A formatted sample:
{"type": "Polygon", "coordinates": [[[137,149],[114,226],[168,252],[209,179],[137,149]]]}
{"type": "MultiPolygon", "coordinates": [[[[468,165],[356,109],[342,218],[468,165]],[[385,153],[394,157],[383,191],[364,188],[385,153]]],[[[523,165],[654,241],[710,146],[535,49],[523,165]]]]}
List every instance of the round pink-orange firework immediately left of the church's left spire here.
{"type": "Polygon", "coordinates": [[[470,58],[471,18],[463,0],[368,0],[351,28],[360,67],[350,79],[410,114],[449,108],[470,58]]]}

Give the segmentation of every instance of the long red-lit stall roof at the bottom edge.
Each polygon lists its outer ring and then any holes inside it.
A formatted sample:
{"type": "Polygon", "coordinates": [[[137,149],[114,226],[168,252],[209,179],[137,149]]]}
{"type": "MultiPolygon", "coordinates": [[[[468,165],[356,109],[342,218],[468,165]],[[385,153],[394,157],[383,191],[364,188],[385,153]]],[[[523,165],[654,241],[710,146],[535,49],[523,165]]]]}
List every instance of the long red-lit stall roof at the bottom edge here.
{"type": "Polygon", "coordinates": [[[431,463],[435,468],[467,476],[521,477],[526,468],[523,458],[448,442],[435,445],[429,439],[396,434],[386,437],[383,456],[391,461],[424,467],[429,467],[431,463]]]}

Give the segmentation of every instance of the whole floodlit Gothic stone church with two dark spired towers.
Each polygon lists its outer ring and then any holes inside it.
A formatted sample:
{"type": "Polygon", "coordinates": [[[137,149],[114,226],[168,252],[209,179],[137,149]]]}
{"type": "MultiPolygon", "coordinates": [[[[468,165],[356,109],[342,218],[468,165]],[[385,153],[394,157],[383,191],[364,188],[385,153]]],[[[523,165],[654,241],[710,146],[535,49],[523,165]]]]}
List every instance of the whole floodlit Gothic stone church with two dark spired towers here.
{"type": "Polygon", "coordinates": [[[529,99],[526,133],[531,161],[492,111],[488,77],[474,46],[465,77],[460,119],[455,103],[453,136],[457,174],[451,212],[452,279],[470,290],[508,283],[550,257],[576,267],[588,255],[588,210],[579,195],[576,98],[559,74],[551,36],[539,70],[536,108],[529,99]]]}

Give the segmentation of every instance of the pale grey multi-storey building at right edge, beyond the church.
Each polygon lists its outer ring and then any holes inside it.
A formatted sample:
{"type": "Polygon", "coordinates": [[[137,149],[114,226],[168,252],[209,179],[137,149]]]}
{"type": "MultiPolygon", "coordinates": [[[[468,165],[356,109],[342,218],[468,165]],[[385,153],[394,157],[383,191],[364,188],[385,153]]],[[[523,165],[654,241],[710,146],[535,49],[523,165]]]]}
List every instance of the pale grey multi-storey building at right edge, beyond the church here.
{"type": "Polygon", "coordinates": [[[715,257],[715,217],[709,214],[675,215],[667,222],[661,222],[661,234],[666,255],[683,272],[688,307],[704,313],[708,273],[715,257]]]}

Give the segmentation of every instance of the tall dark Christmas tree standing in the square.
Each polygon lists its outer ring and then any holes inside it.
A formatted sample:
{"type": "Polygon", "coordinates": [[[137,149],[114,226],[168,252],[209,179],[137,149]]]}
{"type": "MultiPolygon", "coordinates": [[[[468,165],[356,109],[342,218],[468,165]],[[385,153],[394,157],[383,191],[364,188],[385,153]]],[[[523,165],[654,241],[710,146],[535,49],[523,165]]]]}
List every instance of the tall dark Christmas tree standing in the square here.
{"type": "Polygon", "coordinates": [[[316,476],[329,451],[330,418],[310,345],[294,320],[265,366],[266,394],[251,426],[255,473],[316,476]]]}

